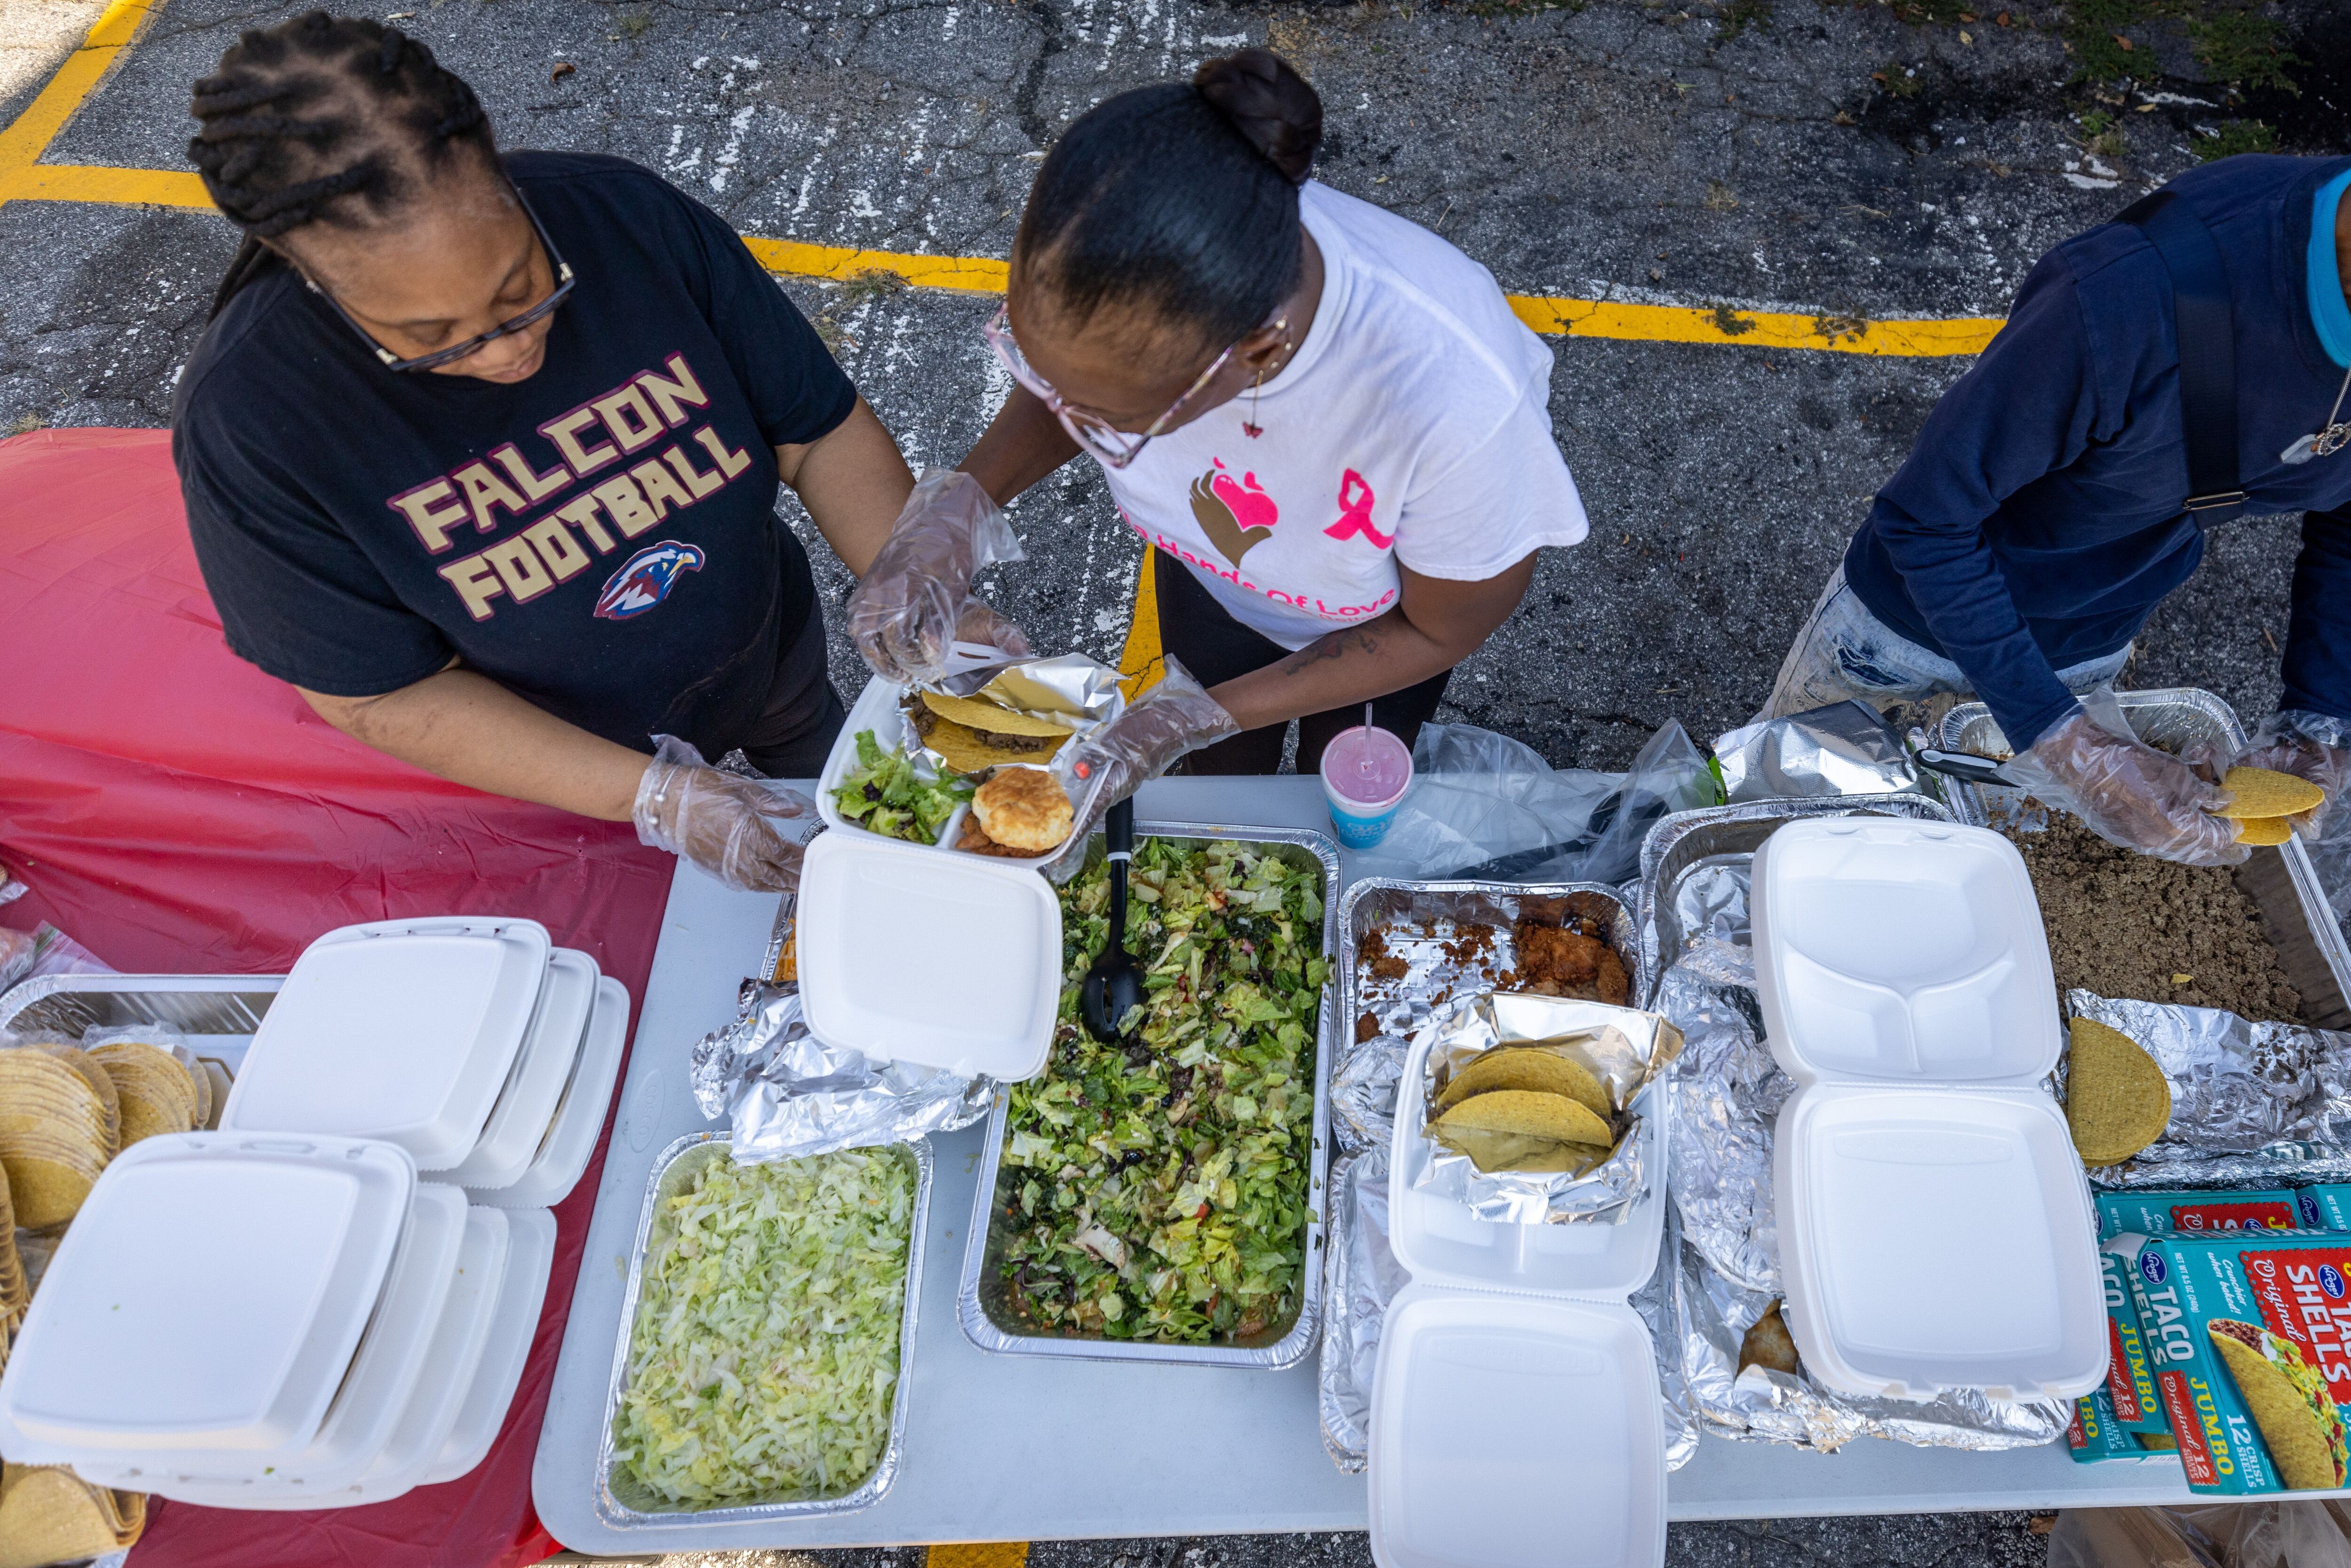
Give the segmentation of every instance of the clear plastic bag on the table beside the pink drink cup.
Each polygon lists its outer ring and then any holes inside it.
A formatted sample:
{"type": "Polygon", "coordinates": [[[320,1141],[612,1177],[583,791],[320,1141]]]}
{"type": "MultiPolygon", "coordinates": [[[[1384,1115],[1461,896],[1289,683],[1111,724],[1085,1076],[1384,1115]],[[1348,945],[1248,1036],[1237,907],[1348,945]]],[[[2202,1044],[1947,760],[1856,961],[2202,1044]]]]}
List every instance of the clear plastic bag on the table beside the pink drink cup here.
{"type": "Polygon", "coordinates": [[[1660,816],[1714,802],[1714,769],[1679,719],[1648,738],[1629,773],[1554,769],[1491,729],[1425,724],[1413,788],[1359,867],[1441,882],[1625,882],[1660,816]]]}

